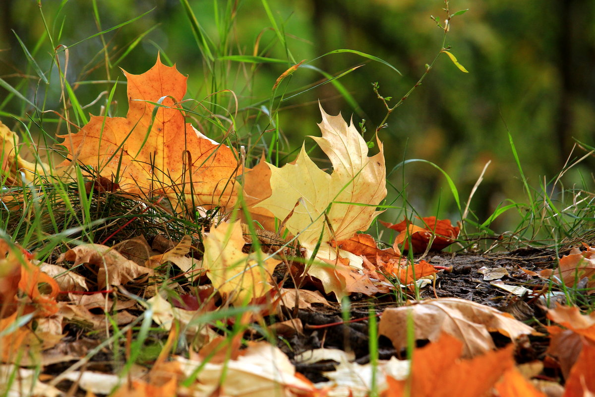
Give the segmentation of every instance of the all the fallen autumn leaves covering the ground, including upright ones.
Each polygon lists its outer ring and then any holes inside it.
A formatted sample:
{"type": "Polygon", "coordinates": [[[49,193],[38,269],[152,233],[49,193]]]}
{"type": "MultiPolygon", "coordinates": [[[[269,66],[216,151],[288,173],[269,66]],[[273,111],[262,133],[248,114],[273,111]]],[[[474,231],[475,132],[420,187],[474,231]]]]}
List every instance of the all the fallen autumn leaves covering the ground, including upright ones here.
{"type": "MultiPolygon", "coordinates": [[[[397,235],[381,248],[363,234],[386,197],[378,138],[369,156],[353,123],[321,108],[322,136],[312,138],[330,173],[304,148],[283,167],[262,160],[250,170],[185,122],[186,77],[175,67],[158,58],[145,74],[125,74],[127,117],[93,116],[63,136],[71,157],[62,165],[99,171],[87,176],[95,199],[167,198],[171,210],[231,215],[173,240],[148,235],[152,246],[145,236],[70,246],[52,263],[0,240],[0,382],[9,395],[595,392],[593,315],[560,305],[564,295],[551,289],[591,287],[595,248],[560,260],[541,249],[439,252],[459,227],[436,217],[383,222],[397,235]],[[420,288],[423,280],[431,285],[420,288]]],[[[18,142],[4,127],[4,142],[18,142]]],[[[48,176],[14,146],[3,150],[5,184],[20,170],[48,176]]]]}

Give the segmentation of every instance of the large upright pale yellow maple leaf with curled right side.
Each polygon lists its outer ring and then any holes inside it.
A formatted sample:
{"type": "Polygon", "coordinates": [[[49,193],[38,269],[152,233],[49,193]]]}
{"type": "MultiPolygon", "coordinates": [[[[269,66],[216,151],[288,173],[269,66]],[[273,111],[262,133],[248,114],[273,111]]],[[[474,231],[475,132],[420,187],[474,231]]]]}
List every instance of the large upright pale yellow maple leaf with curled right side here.
{"type": "Polygon", "coordinates": [[[386,197],[383,145],[377,139],[380,151],[368,157],[368,145],[353,122],[348,126],[340,114],[331,116],[322,107],[320,110],[322,136],[312,139],[330,159],[333,172],[318,168],[302,146],[291,164],[278,168],[267,163],[271,195],[255,207],[271,211],[280,220],[291,214],[285,226],[297,236],[308,257],[320,240],[318,258],[335,260],[339,253],[359,266],[361,258],[331,247],[330,242],[367,230],[382,212],[375,206],[386,197]]]}

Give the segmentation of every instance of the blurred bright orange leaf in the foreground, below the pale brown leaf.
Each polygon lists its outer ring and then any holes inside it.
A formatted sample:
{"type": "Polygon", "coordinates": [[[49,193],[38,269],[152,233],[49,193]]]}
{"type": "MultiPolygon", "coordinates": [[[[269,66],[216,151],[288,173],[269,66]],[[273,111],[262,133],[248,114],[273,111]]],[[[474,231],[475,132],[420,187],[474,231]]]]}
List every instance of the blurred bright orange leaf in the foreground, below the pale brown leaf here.
{"type": "Polygon", "coordinates": [[[512,346],[484,352],[471,360],[461,360],[463,349],[460,340],[447,334],[415,349],[409,379],[389,377],[389,389],[383,397],[484,396],[514,366],[512,346]]]}

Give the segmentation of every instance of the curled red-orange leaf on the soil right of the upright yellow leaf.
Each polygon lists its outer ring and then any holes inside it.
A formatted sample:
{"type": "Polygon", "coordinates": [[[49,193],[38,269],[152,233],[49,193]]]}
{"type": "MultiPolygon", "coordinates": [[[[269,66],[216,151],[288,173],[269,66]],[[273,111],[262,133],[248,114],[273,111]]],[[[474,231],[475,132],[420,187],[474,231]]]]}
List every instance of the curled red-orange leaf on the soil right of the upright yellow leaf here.
{"type": "Polygon", "coordinates": [[[409,249],[409,236],[411,236],[411,245],[416,254],[425,252],[433,236],[431,249],[434,251],[446,248],[455,242],[456,237],[459,236],[459,227],[452,226],[447,219],[438,220],[436,217],[418,217],[418,219],[424,222],[424,227],[415,226],[407,218],[396,224],[383,221],[380,221],[380,223],[389,229],[400,232],[394,241],[395,249],[398,249],[399,246],[402,246],[404,250],[409,249]]]}

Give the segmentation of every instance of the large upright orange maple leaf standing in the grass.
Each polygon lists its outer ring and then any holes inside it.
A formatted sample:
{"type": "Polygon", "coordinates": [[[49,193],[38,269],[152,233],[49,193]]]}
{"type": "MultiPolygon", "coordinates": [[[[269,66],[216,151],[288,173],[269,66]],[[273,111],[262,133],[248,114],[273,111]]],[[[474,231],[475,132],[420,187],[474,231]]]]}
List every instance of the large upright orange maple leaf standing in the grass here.
{"type": "Polygon", "coordinates": [[[79,132],[61,135],[72,160],[96,167],[104,177],[117,175],[127,193],[159,193],[174,201],[183,193],[192,205],[233,205],[237,154],[185,123],[179,101],[187,77],[175,65],[162,64],[159,56],[145,73],[124,71],[124,76],[126,118],[91,116],[79,132]]]}

